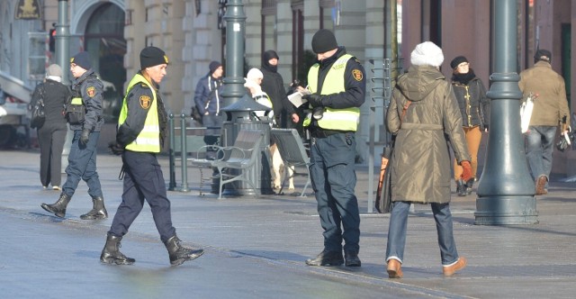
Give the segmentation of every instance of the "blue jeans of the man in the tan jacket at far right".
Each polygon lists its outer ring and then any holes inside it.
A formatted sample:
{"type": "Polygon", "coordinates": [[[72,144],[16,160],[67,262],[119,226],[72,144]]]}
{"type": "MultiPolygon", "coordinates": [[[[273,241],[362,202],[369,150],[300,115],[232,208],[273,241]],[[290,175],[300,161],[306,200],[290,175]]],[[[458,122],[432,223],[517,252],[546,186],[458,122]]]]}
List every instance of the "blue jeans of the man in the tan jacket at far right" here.
{"type": "Polygon", "coordinates": [[[545,176],[546,178],[550,176],[555,137],[555,126],[536,125],[528,128],[526,133],[526,155],[535,181],[540,176],[545,176]]]}

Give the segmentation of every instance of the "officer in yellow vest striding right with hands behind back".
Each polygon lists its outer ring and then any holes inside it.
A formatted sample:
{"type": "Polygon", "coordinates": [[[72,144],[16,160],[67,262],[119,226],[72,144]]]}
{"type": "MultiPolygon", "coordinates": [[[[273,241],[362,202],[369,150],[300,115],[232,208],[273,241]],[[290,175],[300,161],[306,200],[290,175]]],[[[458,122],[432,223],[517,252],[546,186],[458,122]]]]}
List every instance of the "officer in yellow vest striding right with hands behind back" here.
{"type": "Polygon", "coordinates": [[[164,50],[146,47],[140,51],[140,71],[128,85],[118,119],[116,140],[110,148],[121,155],[123,178],[122,202],[112,220],[100,261],[106,264],[130,265],[135,259],[120,252],[121,239],[148,202],[152,217],[168,251],[172,266],[202,256],[202,249],[180,244],[172,225],[170,201],[157,154],[163,147],[167,132],[167,114],[158,93],[158,85],[166,76],[168,58],[164,50]]]}

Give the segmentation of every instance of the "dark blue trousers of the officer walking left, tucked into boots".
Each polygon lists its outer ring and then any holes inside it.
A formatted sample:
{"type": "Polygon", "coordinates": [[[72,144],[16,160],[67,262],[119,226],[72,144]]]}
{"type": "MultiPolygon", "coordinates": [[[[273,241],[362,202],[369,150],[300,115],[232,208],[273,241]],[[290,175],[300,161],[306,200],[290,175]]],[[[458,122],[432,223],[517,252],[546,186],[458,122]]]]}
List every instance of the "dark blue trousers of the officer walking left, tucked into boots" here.
{"type": "Polygon", "coordinates": [[[72,197],[76,191],[80,179],[88,185],[88,195],[103,197],[100,178],[96,172],[96,145],[100,138],[99,131],[90,133],[88,143],[80,144],[81,130],[74,131],[70,153],[68,154],[68,166],[66,168],[66,183],[62,186],[62,193],[72,197]]]}

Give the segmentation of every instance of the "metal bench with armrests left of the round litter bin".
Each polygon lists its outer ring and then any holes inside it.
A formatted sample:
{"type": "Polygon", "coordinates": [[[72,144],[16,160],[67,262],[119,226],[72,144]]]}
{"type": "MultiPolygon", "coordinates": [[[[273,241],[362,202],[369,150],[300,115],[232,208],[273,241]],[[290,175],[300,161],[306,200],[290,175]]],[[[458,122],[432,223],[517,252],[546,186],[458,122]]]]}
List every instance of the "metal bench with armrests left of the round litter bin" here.
{"type": "MultiPolygon", "coordinates": [[[[213,177],[220,178],[220,187],[218,198],[222,198],[222,186],[234,181],[245,181],[250,185],[255,193],[256,186],[248,176],[248,171],[254,168],[257,163],[258,153],[264,134],[261,131],[239,131],[238,137],[231,147],[219,146],[204,146],[202,148],[214,147],[217,149],[216,159],[188,159],[188,161],[195,167],[200,168],[200,182],[202,192],[202,182],[210,180],[213,177]],[[211,177],[204,178],[202,169],[217,168],[218,173],[211,175],[211,177]]],[[[200,153],[202,149],[198,149],[200,153]]],[[[209,170],[211,171],[211,170],[209,170]]]]}

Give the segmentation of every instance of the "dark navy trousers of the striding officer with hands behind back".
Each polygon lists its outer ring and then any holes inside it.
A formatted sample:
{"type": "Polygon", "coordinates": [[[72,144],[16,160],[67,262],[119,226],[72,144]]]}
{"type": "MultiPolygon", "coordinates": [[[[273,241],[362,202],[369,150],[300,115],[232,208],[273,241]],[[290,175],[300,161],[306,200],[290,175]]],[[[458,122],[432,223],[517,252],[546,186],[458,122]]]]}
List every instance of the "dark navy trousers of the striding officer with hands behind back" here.
{"type": "Polygon", "coordinates": [[[124,163],[122,202],[118,206],[108,232],[117,237],[124,236],[142,211],[144,199],[146,199],[157,231],[160,233],[160,239],[166,243],[166,240],[173,237],[176,231],[172,225],[170,201],[166,196],[166,183],[156,154],[125,150],[122,154],[122,161],[124,163]]]}

